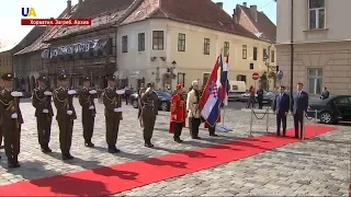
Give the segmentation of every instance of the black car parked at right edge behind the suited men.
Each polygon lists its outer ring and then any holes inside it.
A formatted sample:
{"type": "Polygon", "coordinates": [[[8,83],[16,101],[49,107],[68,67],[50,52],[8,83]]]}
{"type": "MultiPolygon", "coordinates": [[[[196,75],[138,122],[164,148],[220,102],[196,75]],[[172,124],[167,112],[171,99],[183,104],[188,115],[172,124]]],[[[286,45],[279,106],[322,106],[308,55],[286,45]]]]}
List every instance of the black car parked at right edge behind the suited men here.
{"type": "Polygon", "coordinates": [[[351,120],[351,95],[338,95],[327,100],[310,103],[307,115],[317,118],[324,124],[338,124],[340,120],[351,120]]]}

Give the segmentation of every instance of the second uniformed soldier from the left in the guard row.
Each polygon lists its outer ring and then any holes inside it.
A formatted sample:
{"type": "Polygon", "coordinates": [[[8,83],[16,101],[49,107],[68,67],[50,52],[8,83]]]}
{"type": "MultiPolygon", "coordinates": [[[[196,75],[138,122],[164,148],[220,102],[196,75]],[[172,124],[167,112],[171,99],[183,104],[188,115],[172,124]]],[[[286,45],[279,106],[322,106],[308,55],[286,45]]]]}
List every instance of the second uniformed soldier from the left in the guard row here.
{"type": "Polygon", "coordinates": [[[48,147],[52,132],[53,106],[52,91],[46,88],[47,78],[41,76],[38,79],[38,88],[33,90],[32,105],[35,107],[35,117],[37,126],[37,139],[42,148],[42,152],[48,153],[52,150],[48,147]]]}

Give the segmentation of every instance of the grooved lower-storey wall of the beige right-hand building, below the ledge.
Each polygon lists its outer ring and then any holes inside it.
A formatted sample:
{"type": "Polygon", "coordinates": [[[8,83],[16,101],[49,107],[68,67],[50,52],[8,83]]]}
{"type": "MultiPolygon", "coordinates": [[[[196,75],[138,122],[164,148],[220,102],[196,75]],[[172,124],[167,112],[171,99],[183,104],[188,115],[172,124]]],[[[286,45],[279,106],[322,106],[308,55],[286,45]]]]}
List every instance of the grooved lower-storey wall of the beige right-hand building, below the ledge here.
{"type": "MultiPolygon", "coordinates": [[[[308,90],[307,69],[322,69],[322,86],[332,95],[351,95],[351,42],[294,45],[294,85],[302,82],[308,90]]],[[[284,78],[281,84],[290,86],[290,45],[278,45],[278,65],[284,78]]],[[[294,88],[294,86],[293,86],[294,88]]]]}

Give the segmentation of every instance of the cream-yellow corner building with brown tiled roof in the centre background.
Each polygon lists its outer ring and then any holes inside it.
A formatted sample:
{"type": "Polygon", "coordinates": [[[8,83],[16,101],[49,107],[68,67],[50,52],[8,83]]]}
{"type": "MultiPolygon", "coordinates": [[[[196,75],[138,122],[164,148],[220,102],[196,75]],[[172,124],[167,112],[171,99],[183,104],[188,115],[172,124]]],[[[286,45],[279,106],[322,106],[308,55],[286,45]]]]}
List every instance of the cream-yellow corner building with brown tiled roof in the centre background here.
{"type": "MultiPolygon", "coordinates": [[[[229,80],[253,85],[253,72],[267,71],[267,63],[275,66],[273,42],[222,7],[211,0],[141,1],[117,27],[116,76],[133,86],[152,81],[158,89],[174,89],[177,83],[189,88],[197,79],[204,84],[222,51],[229,55],[229,80]],[[270,55],[268,61],[264,54],[270,55]]],[[[256,25],[263,22],[256,7],[244,9],[256,14],[256,25]]]]}

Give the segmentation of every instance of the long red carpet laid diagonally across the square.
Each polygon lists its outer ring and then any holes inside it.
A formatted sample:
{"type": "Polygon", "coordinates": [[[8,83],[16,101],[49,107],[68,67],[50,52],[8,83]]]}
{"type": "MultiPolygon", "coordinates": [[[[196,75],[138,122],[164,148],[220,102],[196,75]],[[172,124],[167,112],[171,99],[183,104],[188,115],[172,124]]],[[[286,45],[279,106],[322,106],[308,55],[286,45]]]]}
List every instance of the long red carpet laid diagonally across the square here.
{"type": "MultiPolygon", "coordinates": [[[[335,129],[319,126],[318,135],[335,129]]],[[[287,136],[293,136],[293,129],[288,129],[287,136]]],[[[306,138],[312,137],[314,127],[306,126],[306,138]]],[[[261,136],[145,161],[5,185],[0,187],[0,196],[105,196],[214,167],[297,141],[288,137],[276,138],[274,135],[261,136]]]]}

